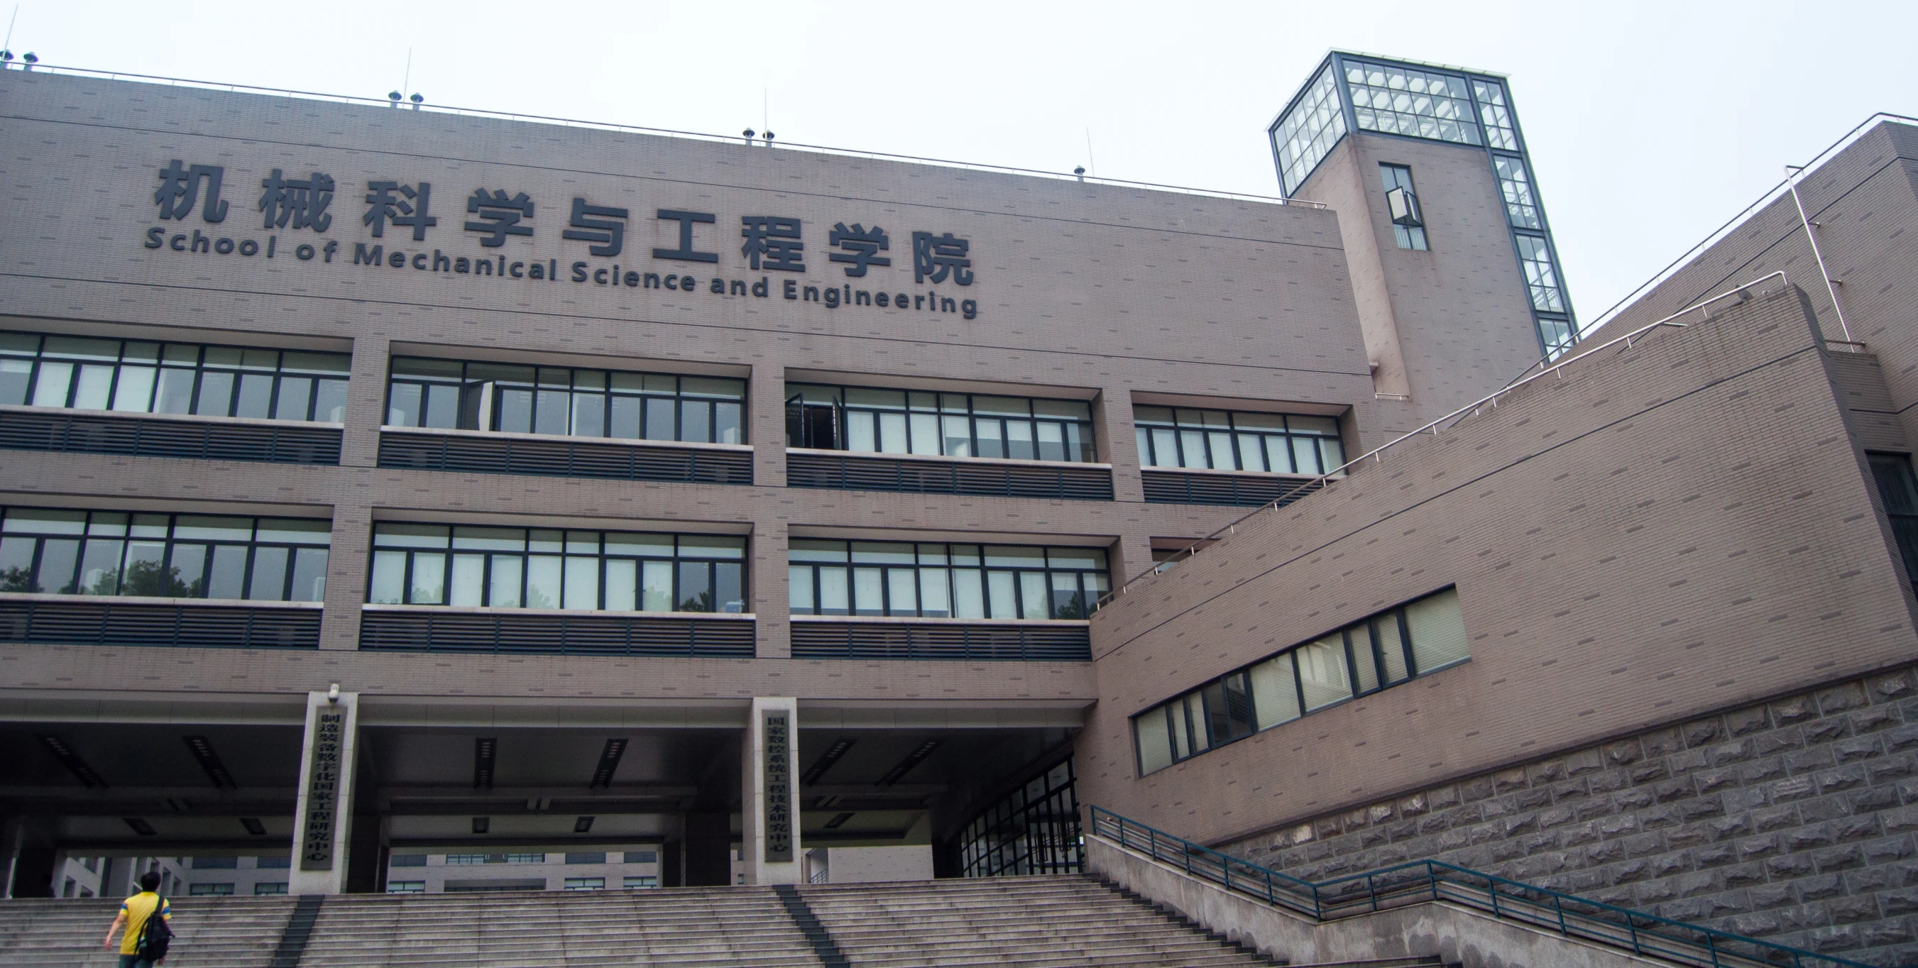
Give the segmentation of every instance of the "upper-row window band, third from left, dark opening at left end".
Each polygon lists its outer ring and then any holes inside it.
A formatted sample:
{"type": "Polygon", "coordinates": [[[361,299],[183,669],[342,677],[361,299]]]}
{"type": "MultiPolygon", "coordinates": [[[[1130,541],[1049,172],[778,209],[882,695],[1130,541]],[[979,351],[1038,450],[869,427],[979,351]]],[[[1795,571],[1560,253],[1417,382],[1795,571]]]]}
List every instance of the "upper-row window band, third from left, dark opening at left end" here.
{"type": "Polygon", "coordinates": [[[865,454],[1095,460],[1091,404],[786,383],[786,447],[865,454]]]}

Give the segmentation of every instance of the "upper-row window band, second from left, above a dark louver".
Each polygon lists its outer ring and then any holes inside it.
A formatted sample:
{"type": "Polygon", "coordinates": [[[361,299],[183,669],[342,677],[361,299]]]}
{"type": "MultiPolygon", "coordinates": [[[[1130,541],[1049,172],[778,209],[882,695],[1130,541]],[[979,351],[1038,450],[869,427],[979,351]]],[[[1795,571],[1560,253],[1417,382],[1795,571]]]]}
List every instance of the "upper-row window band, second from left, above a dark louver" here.
{"type": "Polygon", "coordinates": [[[393,427],[746,443],[744,380],[393,357],[393,427]]]}

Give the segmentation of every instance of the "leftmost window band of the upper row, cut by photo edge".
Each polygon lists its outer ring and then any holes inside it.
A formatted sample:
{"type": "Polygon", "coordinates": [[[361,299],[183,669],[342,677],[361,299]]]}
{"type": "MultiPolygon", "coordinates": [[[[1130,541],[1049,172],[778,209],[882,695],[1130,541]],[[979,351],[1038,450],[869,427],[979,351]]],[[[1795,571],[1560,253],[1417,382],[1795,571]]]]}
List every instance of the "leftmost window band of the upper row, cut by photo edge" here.
{"type": "Polygon", "coordinates": [[[339,424],[345,353],[0,332],[0,404],[339,424]]]}

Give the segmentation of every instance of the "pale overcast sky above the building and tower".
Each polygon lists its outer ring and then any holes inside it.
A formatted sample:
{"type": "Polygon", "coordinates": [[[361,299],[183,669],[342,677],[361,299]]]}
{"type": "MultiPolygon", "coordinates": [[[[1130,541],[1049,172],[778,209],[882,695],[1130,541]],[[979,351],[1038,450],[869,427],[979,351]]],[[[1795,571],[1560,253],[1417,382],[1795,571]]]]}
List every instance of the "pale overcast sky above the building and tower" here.
{"type": "Polygon", "coordinates": [[[1573,305],[1592,324],[1782,165],[1872,111],[1918,115],[1914,36],[1910,0],[21,0],[10,46],[56,65],[374,98],[405,82],[460,107],[771,127],[790,142],[1272,196],[1264,128],[1327,48],[1458,63],[1511,77],[1573,305]]]}

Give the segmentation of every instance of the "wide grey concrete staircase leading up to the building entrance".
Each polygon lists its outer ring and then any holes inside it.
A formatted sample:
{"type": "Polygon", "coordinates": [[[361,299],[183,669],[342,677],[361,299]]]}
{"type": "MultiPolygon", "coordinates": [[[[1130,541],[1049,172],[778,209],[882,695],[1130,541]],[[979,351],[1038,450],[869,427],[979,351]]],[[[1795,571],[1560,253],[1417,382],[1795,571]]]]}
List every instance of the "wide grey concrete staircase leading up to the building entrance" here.
{"type": "MultiPolygon", "coordinates": [[[[0,901],[0,968],[109,968],[117,901],[0,901]]],[[[173,901],[167,968],[1237,968],[1275,964],[1088,876],[328,897],[297,962],[290,897],[173,901]],[[806,930],[802,930],[802,922],[806,930]],[[280,958],[276,958],[276,953],[280,958]]],[[[1406,962],[1354,962],[1402,968],[1406,962]]]]}

